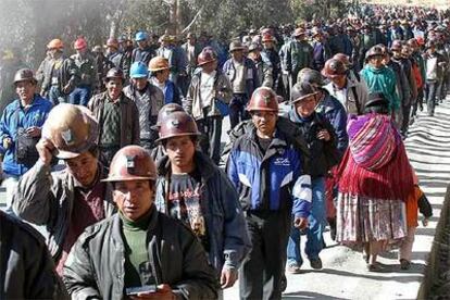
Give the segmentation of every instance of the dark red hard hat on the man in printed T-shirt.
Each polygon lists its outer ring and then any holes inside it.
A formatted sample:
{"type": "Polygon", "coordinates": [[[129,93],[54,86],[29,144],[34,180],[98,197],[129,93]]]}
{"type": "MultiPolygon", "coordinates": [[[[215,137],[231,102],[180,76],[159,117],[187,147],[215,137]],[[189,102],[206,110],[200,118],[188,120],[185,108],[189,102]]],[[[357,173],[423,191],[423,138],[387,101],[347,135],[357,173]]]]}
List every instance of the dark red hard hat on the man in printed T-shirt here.
{"type": "Polygon", "coordinates": [[[196,121],[186,112],[173,112],[160,126],[160,138],[157,141],[173,137],[199,136],[196,121]]]}

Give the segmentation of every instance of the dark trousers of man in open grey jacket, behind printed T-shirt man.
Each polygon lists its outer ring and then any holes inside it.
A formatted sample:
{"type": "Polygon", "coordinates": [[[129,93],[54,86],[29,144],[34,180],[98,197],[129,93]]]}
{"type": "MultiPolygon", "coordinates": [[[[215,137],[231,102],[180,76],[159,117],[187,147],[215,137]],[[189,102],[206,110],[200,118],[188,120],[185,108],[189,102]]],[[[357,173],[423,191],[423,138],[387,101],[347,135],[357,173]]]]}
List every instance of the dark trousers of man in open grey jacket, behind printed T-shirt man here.
{"type": "Polygon", "coordinates": [[[204,140],[203,142],[200,141],[200,147],[217,165],[221,161],[222,120],[223,117],[217,115],[207,116],[197,121],[200,133],[208,137],[207,142],[204,140]]]}

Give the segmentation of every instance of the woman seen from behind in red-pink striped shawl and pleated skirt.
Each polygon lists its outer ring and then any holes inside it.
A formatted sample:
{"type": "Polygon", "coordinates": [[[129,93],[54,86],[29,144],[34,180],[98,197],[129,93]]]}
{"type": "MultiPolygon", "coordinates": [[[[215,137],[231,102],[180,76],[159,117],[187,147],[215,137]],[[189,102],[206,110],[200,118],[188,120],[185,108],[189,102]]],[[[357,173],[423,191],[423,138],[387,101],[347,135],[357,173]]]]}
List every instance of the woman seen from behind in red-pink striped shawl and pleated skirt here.
{"type": "Polygon", "coordinates": [[[379,271],[377,254],[407,236],[411,166],[382,92],[368,96],[365,114],[351,117],[347,130],[350,145],[338,167],[337,240],[364,249],[367,270],[379,271]]]}

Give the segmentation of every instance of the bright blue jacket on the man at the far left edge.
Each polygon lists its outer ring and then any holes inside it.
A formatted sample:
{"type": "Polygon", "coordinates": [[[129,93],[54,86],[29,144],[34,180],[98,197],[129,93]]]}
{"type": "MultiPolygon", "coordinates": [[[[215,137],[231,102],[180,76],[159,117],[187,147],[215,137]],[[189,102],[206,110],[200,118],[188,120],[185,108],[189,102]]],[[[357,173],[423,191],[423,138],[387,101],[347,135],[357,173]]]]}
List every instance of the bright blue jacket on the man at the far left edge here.
{"type": "Polygon", "coordinates": [[[0,120],[0,140],[3,141],[7,137],[12,139],[12,145],[7,149],[3,158],[3,172],[14,176],[21,176],[29,168],[24,164],[16,163],[14,158],[14,141],[16,139],[17,128],[29,128],[32,126],[42,127],[43,122],[47,120],[52,108],[49,100],[43,99],[37,93],[26,112],[21,108],[20,101],[21,100],[16,99],[10,103],[4,109],[0,120]]]}

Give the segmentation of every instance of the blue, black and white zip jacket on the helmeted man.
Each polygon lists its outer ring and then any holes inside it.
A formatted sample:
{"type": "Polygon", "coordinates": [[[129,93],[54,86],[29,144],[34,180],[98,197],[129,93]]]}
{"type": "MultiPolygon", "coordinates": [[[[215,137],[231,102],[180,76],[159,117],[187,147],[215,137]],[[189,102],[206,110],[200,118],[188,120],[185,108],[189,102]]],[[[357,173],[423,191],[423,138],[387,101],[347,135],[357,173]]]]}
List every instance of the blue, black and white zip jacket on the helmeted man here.
{"type": "Polygon", "coordinates": [[[311,176],[304,174],[301,152],[277,129],[263,154],[257,143],[257,129],[240,136],[233,145],[227,172],[245,211],[291,210],[308,217],[311,211],[311,176]]]}

